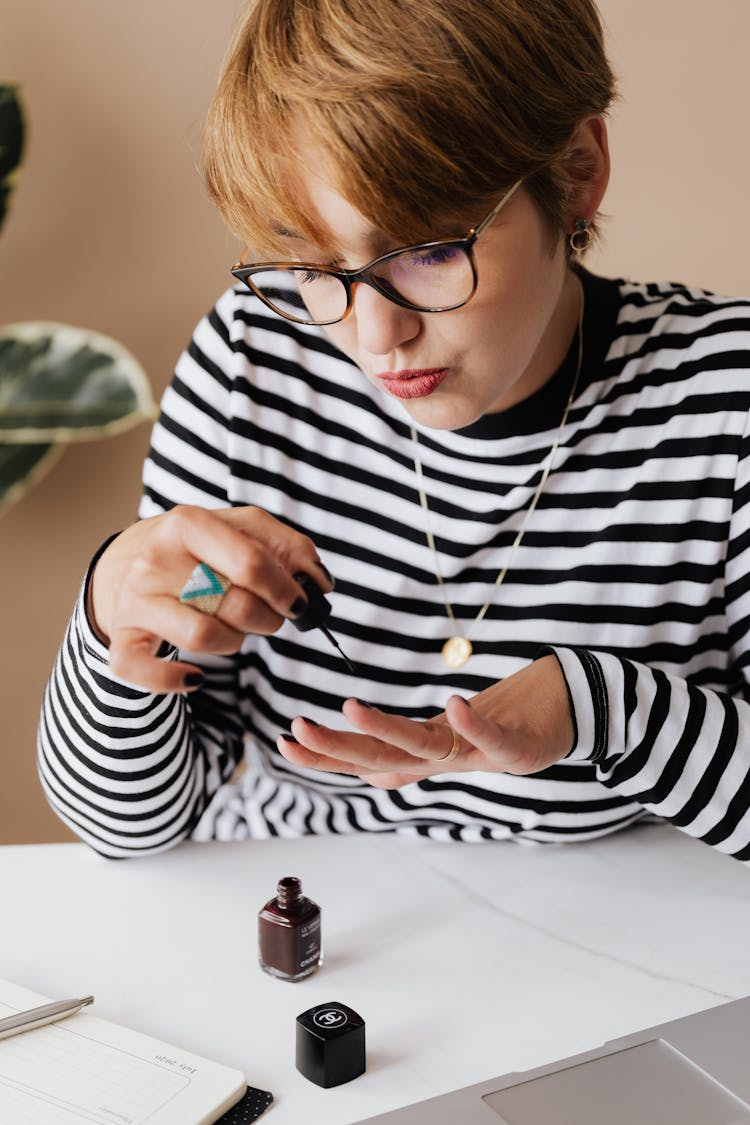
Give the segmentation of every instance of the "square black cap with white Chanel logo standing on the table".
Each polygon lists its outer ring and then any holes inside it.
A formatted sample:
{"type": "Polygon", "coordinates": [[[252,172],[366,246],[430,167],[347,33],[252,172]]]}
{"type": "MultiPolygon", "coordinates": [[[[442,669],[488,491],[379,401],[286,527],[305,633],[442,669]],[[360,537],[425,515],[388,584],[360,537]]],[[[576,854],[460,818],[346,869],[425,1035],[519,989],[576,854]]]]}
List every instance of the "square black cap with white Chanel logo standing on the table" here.
{"type": "Polygon", "coordinates": [[[364,1073],[364,1020],[345,1004],[318,1004],[297,1017],[297,1070],[317,1086],[364,1073]]]}

